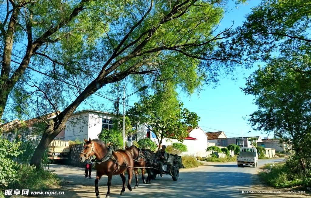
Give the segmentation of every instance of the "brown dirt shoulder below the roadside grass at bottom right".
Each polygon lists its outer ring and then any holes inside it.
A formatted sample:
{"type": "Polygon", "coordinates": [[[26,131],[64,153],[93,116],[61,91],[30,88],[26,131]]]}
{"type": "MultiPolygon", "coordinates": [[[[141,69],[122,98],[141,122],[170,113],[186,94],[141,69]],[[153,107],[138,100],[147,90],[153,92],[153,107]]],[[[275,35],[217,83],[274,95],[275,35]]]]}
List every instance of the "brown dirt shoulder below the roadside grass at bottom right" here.
{"type": "MultiPolygon", "coordinates": [[[[262,170],[258,170],[258,173],[262,170]]],[[[252,189],[253,190],[264,190],[264,191],[305,191],[305,193],[300,194],[256,194],[256,197],[258,198],[271,198],[271,197],[278,197],[278,198],[292,198],[292,197],[311,197],[311,192],[301,189],[299,187],[297,188],[273,188],[268,186],[265,182],[262,181],[262,179],[258,176],[258,174],[254,174],[252,177],[252,189]]],[[[249,194],[248,194],[249,195],[249,194]]],[[[253,197],[251,195],[246,197],[253,197]]]]}

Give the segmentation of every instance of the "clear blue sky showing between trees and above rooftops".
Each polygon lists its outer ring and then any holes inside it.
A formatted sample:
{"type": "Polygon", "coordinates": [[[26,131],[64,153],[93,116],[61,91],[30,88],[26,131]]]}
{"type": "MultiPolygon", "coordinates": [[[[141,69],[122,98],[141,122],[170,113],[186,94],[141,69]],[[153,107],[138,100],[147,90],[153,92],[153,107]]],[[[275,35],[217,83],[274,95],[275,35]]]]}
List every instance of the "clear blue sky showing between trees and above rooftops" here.
{"type": "MultiPolygon", "coordinates": [[[[234,2],[231,2],[229,10],[224,19],[221,21],[221,27],[230,27],[234,20],[234,27],[241,26],[245,21],[245,15],[251,11],[251,8],[256,6],[259,1],[250,1],[248,4],[239,5],[236,8],[234,2]]],[[[253,104],[254,97],[251,95],[245,95],[239,87],[245,87],[246,80],[251,73],[258,68],[257,64],[252,69],[237,69],[237,81],[232,81],[228,78],[220,79],[220,85],[213,89],[211,86],[203,87],[204,91],[201,91],[199,96],[195,93],[192,97],[188,97],[183,93],[180,93],[181,101],[184,103],[184,107],[190,111],[194,111],[201,117],[199,126],[203,130],[213,131],[225,131],[227,137],[241,137],[243,131],[244,136],[261,136],[267,135],[260,131],[251,131],[250,125],[248,125],[248,115],[257,110],[257,106],[253,104]],[[245,119],[246,118],[246,119],[245,119]]],[[[128,94],[132,93],[128,90],[128,94]]],[[[95,101],[101,101],[105,103],[107,108],[112,106],[112,102],[105,101],[103,98],[94,97],[95,101]]],[[[133,95],[129,98],[128,104],[133,105],[138,101],[137,96],[133,95]]],[[[84,108],[90,108],[90,106],[83,106],[84,108]]],[[[121,106],[120,106],[121,107],[121,106]]],[[[121,107],[122,112],[122,107],[121,107]]],[[[272,137],[272,135],[270,135],[272,137]]]]}

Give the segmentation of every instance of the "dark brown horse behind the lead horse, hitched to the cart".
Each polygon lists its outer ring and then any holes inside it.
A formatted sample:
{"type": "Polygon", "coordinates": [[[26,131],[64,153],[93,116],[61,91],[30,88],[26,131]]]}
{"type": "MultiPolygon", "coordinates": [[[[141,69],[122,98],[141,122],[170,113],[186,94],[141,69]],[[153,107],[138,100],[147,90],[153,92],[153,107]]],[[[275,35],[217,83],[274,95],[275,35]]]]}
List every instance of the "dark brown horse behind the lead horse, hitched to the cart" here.
{"type": "MultiPolygon", "coordinates": [[[[152,167],[152,159],[154,158],[154,153],[150,149],[138,149],[136,146],[132,145],[131,147],[126,148],[132,153],[134,159],[134,167],[139,167],[142,170],[142,182],[145,184],[150,184],[150,171],[152,167]],[[147,168],[145,168],[147,167],[147,168]],[[147,180],[145,182],[145,170],[147,171],[147,180]]],[[[138,188],[138,168],[134,168],[136,185],[135,188],[138,188]]]]}

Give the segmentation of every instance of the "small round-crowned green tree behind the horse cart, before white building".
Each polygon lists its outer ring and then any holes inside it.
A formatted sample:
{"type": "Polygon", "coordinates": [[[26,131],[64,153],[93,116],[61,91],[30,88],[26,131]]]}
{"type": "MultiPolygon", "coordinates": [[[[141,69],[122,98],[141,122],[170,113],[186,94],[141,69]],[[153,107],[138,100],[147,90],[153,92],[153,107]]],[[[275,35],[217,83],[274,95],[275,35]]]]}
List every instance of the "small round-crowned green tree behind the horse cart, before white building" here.
{"type": "Polygon", "coordinates": [[[188,137],[188,126],[197,127],[197,114],[182,106],[174,89],[166,87],[166,90],[158,90],[154,95],[143,96],[134,108],[127,111],[127,116],[133,123],[141,123],[155,134],[160,149],[163,138],[183,141],[188,137]]]}

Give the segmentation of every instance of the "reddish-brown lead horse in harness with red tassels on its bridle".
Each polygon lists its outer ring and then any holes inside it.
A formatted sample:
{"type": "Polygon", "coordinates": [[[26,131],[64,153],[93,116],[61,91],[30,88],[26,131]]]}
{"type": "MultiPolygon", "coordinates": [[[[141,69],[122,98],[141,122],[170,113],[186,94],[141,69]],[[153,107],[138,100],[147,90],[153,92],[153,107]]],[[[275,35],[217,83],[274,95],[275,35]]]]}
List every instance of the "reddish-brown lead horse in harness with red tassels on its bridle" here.
{"type": "Polygon", "coordinates": [[[84,162],[89,159],[92,155],[95,155],[96,166],[96,179],[95,179],[95,193],[99,198],[98,182],[103,175],[108,176],[108,191],[106,198],[110,197],[110,186],[113,175],[120,175],[123,182],[123,188],[120,195],[124,195],[125,191],[125,175],[124,172],[128,172],[128,190],[132,191],[131,179],[133,170],[133,157],[132,154],[127,150],[116,150],[115,152],[106,147],[106,144],[100,139],[89,138],[89,141],[84,139],[86,144],[80,154],[80,162],[84,162]]]}

